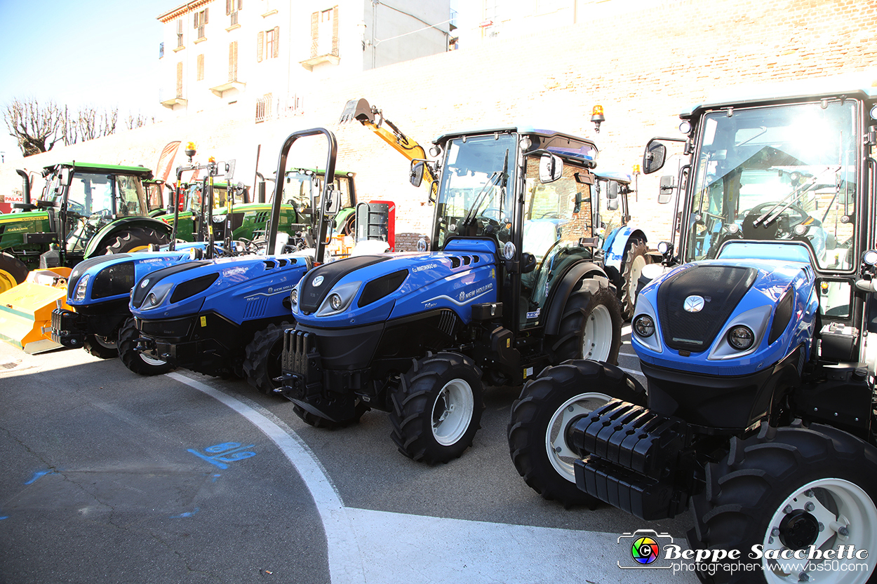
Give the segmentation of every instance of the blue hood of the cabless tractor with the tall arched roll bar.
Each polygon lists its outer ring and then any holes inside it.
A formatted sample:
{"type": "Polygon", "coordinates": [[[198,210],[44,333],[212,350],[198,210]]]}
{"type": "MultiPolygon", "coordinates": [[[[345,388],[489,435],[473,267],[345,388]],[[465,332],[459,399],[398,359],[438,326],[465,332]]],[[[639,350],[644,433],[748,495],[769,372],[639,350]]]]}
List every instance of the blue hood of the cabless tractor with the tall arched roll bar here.
{"type": "Polygon", "coordinates": [[[211,311],[237,323],[263,317],[267,310],[289,312],[280,307],[289,303],[289,290],[309,267],[310,259],[297,255],[181,262],[139,280],[131,312],[153,320],[211,311]]]}

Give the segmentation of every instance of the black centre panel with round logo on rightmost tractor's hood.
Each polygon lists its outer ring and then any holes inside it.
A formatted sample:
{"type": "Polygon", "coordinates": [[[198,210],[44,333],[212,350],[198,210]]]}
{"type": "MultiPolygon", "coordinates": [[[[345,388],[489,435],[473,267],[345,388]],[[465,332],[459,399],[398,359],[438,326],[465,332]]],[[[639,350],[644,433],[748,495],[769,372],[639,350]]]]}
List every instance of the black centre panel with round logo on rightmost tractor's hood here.
{"type": "Polygon", "coordinates": [[[658,290],[658,314],[667,346],[677,351],[706,351],[757,274],[752,267],[693,266],[667,278],[658,290]],[[702,310],[684,309],[690,296],[703,298],[702,310]]]}

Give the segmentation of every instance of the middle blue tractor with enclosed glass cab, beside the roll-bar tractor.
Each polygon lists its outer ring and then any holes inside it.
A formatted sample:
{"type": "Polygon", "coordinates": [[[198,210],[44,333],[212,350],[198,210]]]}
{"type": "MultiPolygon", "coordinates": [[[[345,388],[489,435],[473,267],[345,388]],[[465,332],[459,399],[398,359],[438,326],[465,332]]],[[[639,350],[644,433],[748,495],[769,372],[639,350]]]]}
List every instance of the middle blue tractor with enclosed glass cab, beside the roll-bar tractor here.
{"type": "Polygon", "coordinates": [[[597,148],[531,127],[448,133],[430,165],[417,253],[316,267],[290,295],[282,393],[315,426],[389,412],[400,452],[446,462],[472,444],[482,383],[568,359],[614,362],[621,309],[591,205],[597,148]]]}

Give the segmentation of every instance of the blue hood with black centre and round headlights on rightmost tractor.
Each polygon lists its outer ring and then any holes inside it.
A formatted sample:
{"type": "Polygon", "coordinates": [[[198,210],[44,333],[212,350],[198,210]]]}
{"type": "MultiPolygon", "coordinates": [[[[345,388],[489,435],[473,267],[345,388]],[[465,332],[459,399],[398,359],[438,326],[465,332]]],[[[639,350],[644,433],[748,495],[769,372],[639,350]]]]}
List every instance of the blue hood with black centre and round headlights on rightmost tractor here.
{"type": "Polygon", "coordinates": [[[641,360],[659,367],[752,374],[799,345],[809,354],[818,306],[809,262],[696,261],[643,288],[631,344],[641,360]]]}

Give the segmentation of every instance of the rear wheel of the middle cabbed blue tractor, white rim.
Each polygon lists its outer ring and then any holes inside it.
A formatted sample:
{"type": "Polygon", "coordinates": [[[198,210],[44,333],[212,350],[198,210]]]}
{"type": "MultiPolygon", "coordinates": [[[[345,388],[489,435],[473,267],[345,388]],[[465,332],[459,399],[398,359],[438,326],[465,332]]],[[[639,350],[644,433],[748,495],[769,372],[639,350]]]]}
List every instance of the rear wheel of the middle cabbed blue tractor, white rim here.
{"type": "Polygon", "coordinates": [[[609,280],[581,281],[567,299],[560,331],[545,339],[552,363],[589,359],[616,364],[621,348],[621,307],[609,280]]]}

